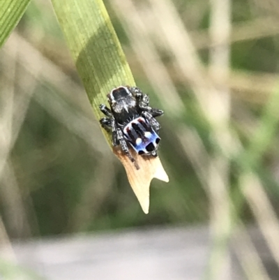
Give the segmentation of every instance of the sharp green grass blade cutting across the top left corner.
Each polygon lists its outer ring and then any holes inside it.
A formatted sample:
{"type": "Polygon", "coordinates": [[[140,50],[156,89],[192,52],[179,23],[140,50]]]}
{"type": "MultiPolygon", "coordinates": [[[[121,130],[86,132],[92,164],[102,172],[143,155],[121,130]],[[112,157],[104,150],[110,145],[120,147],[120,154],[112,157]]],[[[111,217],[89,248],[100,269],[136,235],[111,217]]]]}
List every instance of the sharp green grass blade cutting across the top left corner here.
{"type": "Polygon", "coordinates": [[[22,18],[30,0],[0,0],[0,47],[22,18]]]}

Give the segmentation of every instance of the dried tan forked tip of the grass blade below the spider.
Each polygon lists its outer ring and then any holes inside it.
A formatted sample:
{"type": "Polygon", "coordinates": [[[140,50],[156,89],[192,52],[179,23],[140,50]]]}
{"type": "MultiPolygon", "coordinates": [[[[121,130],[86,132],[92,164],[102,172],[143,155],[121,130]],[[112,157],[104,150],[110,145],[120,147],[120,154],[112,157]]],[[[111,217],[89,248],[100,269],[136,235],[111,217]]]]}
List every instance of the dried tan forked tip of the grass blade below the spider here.
{"type": "Polygon", "coordinates": [[[135,164],[123,154],[121,149],[114,148],[114,154],[119,158],[123,164],[128,181],[132,186],[132,189],[140,202],[140,206],[145,214],[149,212],[149,189],[150,183],[153,178],[157,178],[164,182],[169,182],[169,177],[165,172],[163,165],[158,156],[140,156],[135,151],[130,149],[139,169],[135,167],[135,164]]]}

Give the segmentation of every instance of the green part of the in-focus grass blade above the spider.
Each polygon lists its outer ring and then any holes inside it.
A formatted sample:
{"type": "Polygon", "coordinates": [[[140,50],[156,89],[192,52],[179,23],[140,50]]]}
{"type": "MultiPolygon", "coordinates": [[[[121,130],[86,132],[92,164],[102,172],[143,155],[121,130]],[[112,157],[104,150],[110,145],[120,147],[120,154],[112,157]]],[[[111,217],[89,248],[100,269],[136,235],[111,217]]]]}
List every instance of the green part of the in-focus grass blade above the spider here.
{"type": "Polygon", "coordinates": [[[101,0],[52,0],[52,5],[99,119],[98,105],[112,88],[135,84],[110,17],[101,0]]]}

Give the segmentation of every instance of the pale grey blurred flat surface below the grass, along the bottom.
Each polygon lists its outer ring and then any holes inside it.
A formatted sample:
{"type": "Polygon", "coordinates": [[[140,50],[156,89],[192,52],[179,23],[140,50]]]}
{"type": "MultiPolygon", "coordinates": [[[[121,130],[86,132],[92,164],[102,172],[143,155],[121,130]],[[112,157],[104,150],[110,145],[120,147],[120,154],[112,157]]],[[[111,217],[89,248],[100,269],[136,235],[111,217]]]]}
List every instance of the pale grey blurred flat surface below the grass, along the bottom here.
{"type": "MultiPolygon", "coordinates": [[[[203,228],[126,230],[13,244],[17,260],[53,280],[197,280],[209,259],[203,228]]],[[[232,260],[232,279],[243,279],[232,260]]]]}

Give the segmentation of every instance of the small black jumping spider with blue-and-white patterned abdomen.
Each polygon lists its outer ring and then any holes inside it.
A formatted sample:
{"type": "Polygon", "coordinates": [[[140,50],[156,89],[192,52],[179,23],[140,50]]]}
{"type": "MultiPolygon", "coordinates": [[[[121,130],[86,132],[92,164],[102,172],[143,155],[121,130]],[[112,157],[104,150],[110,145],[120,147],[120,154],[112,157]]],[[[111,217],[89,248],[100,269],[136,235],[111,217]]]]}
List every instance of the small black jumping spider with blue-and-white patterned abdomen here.
{"type": "Polygon", "coordinates": [[[107,101],[110,109],[100,105],[107,116],[100,119],[100,124],[112,131],[112,145],[120,145],[133,162],[128,143],[137,154],[157,156],[160,124],[155,117],[163,115],[163,111],[149,107],[149,96],[138,87],[116,87],[107,94],[107,101]]]}

